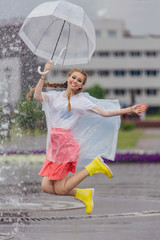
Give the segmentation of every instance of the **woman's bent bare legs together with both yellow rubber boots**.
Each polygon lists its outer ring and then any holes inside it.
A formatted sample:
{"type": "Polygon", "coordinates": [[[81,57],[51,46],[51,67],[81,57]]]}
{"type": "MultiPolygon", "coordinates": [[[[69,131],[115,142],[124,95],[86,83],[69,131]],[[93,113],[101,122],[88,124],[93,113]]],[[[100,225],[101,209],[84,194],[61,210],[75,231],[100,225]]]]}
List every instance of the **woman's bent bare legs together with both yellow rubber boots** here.
{"type": "Polygon", "coordinates": [[[74,196],[76,199],[84,203],[86,206],[86,213],[91,214],[93,209],[94,189],[75,189],[75,187],[87,176],[92,176],[93,174],[97,173],[103,173],[109,178],[113,176],[110,168],[103,164],[102,161],[97,157],[90,164],[88,164],[85,169],[70,177],[65,177],[61,180],[54,181],[50,181],[48,177],[44,177],[42,180],[42,189],[47,193],[74,196]]]}

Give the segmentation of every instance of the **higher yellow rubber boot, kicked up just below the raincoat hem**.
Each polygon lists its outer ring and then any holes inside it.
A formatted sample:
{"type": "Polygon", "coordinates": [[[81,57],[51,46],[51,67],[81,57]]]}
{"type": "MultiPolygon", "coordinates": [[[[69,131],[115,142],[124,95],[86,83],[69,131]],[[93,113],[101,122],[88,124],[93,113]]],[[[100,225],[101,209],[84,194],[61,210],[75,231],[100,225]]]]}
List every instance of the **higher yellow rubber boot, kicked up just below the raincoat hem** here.
{"type": "Polygon", "coordinates": [[[113,177],[111,169],[104,164],[99,157],[96,157],[90,164],[88,164],[85,169],[88,171],[89,175],[92,176],[95,173],[103,173],[107,177],[113,177]]]}

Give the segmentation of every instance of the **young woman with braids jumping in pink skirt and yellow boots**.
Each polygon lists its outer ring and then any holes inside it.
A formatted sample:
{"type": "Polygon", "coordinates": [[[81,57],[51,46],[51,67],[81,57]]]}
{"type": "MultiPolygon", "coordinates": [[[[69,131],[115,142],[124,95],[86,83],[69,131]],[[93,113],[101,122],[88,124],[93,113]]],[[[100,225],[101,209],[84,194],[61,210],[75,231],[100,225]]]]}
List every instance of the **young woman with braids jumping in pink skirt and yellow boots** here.
{"type": "MultiPolygon", "coordinates": [[[[44,71],[50,69],[51,63],[48,62],[44,71]]],[[[96,155],[95,159],[83,170],[67,177],[68,172],[75,173],[77,159],[81,152],[80,144],[72,132],[77,127],[82,115],[91,112],[93,115],[105,118],[126,113],[141,115],[146,111],[147,106],[139,104],[129,108],[110,110],[98,106],[81,92],[87,75],[78,69],[73,69],[68,73],[67,81],[64,84],[51,84],[52,87],[66,88],[65,91],[42,92],[44,86],[50,86],[44,83],[45,77],[46,75],[41,76],[34,92],[34,99],[43,103],[48,127],[46,159],[39,173],[43,177],[42,190],[50,194],[74,196],[85,204],[86,213],[90,214],[93,209],[94,189],[78,189],[76,186],[83,179],[95,173],[105,174],[109,178],[113,174],[111,169],[103,163],[101,157],[96,155]]],[[[107,136],[105,137],[107,138],[107,136]]],[[[97,135],[95,135],[96,138],[97,135]]],[[[97,144],[94,144],[93,148],[96,148],[98,143],[97,138],[97,144]]],[[[99,145],[98,147],[100,148],[99,145]]],[[[92,149],[90,151],[92,152],[92,149]]]]}

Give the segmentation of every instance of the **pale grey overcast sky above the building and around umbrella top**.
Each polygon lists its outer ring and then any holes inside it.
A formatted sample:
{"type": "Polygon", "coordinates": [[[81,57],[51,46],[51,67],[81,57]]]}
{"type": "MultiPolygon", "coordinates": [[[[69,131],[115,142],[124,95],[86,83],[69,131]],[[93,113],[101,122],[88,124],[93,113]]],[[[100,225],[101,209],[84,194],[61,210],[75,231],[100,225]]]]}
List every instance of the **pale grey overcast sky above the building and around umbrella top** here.
{"type": "MultiPolygon", "coordinates": [[[[50,0],[0,0],[0,21],[27,15],[50,0]]],[[[160,0],[68,0],[93,19],[122,19],[132,35],[160,35],[160,0]]]]}

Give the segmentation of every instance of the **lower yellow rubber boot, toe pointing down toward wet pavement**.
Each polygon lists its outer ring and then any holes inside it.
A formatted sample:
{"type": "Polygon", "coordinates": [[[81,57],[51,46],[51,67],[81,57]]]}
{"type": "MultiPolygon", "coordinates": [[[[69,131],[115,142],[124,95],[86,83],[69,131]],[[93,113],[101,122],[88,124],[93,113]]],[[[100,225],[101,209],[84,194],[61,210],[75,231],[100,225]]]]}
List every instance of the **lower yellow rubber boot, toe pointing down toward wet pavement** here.
{"type": "Polygon", "coordinates": [[[79,199],[86,206],[86,213],[91,214],[94,202],[94,188],[78,189],[76,188],[75,199],[79,199]]]}

